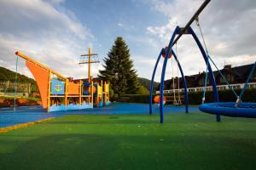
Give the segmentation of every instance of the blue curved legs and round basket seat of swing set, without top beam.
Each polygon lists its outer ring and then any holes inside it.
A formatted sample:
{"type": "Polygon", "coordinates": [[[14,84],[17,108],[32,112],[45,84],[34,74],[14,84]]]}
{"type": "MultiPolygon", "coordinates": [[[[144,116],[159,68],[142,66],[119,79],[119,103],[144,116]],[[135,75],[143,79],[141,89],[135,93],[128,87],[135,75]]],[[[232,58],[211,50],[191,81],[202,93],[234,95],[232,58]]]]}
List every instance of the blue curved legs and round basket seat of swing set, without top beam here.
{"type": "MultiPolygon", "coordinates": [[[[183,86],[184,86],[185,111],[186,111],[186,113],[189,112],[189,105],[188,105],[189,97],[188,97],[187,83],[186,83],[185,77],[183,75],[182,66],[178,62],[177,55],[172,50],[173,40],[179,34],[182,34],[182,28],[177,26],[175,31],[172,34],[172,37],[171,37],[171,40],[169,42],[166,52],[165,52],[164,48],[161,49],[160,54],[157,58],[157,61],[154,65],[154,71],[153,71],[151,85],[150,85],[149,114],[152,114],[152,102],[153,102],[152,95],[153,95],[155,71],[157,69],[157,66],[159,64],[160,57],[162,56],[162,54],[166,54],[166,56],[169,56],[170,54],[172,54],[177,61],[177,65],[178,65],[179,71],[181,72],[183,86]]],[[[249,117],[249,118],[253,117],[253,118],[255,118],[256,117],[256,103],[218,102],[217,84],[215,82],[215,77],[212,72],[212,67],[211,67],[210,63],[207,63],[208,62],[207,53],[206,53],[205,49],[203,48],[199,38],[196,36],[195,31],[193,31],[193,29],[190,26],[188,27],[186,34],[190,34],[194,38],[198,48],[201,51],[202,57],[205,60],[207,69],[209,71],[210,82],[212,84],[212,89],[213,89],[214,103],[202,104],[202,105],[200,105],[199,109],[203,112],[207,112],[207,113],[216,115],[216,122],[220,122],[220,116],[235,116],[235,117],[249,117]]],[[[167,60],[168,60],[168,57],[166,57],[164,59],[162,72],[161,72],[161,79],[160,79],[160,123],[164,122],[164,102],[163,102],[163,100],[164,100],[164,81],[165,81],[165,75],[166,75],[167,60]]],[[[247,78],[245,87],[241,91],[239,99],[241,99],[241,96],[244,93],[245,88],[247,87],[247,83],[249,82],[250,78],[252,77],[253,71],[255,68],[256,68],[256,62],[254,63],[253,69],[250,72],[249,77],[247,78]]]]}

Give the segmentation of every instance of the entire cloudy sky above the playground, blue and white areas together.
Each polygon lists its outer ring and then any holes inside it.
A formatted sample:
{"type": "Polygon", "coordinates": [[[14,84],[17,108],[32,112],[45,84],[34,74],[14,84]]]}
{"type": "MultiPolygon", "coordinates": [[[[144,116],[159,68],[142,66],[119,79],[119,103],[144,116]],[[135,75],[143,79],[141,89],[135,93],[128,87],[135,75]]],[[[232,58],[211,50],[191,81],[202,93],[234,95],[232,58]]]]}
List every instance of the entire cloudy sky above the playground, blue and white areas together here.
{"type": "MultiPolygon", "coordinates": [[[[184,26],[203,0],[1,0],[0,65],[15,70],[20,50],[67,77],[87,75],[78,65],[91,47],[102,60],[117,36],[125,39],[139,77],[150,78],[160,48],[170,41],[176,26],[184,26]]],[[[209,53],[224,64],[245,65],[256,60],[256,1],[212,0],[200,15],[209,53]]],[[[199,29],[192,25],[200,37],[199,29]]],[[[201,38],[201,37],[200,37],[201,38]]],[[[206,66],[188,35],[177,43],[177,55],[186,75],[206,66]]],[[[160,68],[156,81],[160,81],[160,68]]],[[[177,76],[168,62],[166,79],[177,76]]],[[[32,77],[24,60],[19,71],[32,77]]],[[[93,66],[93,76],[102,65],[93,66]]]]}

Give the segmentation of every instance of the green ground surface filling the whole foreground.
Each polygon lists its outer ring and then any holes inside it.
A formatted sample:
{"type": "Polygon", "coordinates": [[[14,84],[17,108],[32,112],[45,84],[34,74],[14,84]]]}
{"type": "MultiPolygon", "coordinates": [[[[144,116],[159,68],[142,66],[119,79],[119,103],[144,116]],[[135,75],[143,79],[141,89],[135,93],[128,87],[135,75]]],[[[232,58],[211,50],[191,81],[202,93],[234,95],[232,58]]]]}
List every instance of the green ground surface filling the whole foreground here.
{"type": "Polygon", "coordinates": [[[256,119],[73,115],[0,134],[1,169],[256,169],[256,119]]]}

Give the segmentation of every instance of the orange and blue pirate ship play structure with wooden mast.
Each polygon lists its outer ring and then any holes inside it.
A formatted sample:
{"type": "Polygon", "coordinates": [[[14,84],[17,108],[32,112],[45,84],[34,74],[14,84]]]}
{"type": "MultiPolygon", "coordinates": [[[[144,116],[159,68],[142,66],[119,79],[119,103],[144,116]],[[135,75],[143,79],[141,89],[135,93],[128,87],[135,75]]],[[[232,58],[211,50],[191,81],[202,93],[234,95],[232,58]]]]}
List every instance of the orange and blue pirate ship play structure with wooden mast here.
{"type": "Polygon", "coordinates": [[[43,108],[49,111],[69,111],[93,108],[109,104],[109,83],[93,82],[90,76],[91,59],[96,54],[83,54],[86,59],[79,64],[88,64],[88,80],[73,80],[42,65],[19,51],[17,56],[26,59],[26,66],[35,78],[43,108]]]}

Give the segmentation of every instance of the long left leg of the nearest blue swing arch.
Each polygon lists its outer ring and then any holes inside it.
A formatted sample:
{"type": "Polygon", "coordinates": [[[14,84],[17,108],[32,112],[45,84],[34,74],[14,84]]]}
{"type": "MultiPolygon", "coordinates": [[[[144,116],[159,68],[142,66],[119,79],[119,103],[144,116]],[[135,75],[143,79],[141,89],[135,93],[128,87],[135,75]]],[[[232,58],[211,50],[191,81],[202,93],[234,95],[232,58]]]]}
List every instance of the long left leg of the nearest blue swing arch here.
{"type": "Polygon", "coordinates": [[[177,35],[177,31],[179,30],[179,27],[177,26],[175,31],[172,34],[172,38],[169,42],[167,51],[166,51],[166,58],[164,60],[164,64],[162,67],[162,73],[161,73],[161,81],[160,81],[160,123],[164,122],[164,82],[165,82],[165,76],[166,76],[166,65],[169,54],[172,53],[172,43],[174,41],[175,36],[177,35]]]}

